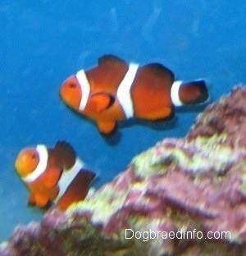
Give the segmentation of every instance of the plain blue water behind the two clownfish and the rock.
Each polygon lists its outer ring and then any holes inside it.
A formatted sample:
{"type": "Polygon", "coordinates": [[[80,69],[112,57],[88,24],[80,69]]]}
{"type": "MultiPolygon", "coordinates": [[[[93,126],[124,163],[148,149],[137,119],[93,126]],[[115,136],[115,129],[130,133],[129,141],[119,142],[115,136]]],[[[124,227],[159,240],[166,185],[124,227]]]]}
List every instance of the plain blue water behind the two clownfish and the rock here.
{"type": "Polygon", "coordinates": [[[13,167],[22,148],[66,139],[99,173],[100,186],[158,140],[184,136],[198,114],[177,112],[162,129],[123,125],[105,139],[58,97],[67,76],[113,53],[140,64],[162,62],[180,79],[207,78],[216,100],[246,80],[245,13],[243,0],[2,0],[0,241],[43,215],[26,206],[28,191],[13,167]]]}

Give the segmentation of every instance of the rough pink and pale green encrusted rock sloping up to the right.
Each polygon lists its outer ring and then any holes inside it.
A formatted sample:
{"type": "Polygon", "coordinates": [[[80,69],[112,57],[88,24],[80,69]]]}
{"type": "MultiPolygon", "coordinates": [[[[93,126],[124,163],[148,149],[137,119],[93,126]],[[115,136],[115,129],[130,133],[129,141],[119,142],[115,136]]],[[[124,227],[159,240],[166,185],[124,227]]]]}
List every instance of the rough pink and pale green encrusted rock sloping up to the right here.
{"type": "Polygon", "coordinates": [[[246,255],[246,88],[66,213],[16,227],[0,255],[246,255]]]}

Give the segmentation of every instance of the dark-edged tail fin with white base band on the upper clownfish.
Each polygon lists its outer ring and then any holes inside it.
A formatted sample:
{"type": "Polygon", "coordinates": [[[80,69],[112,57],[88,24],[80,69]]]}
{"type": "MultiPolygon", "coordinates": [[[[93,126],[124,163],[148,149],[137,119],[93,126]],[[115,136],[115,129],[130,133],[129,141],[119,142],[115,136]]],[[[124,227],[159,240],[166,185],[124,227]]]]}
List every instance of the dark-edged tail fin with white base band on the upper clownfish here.
{"type": "Polygon", "coordinates": [[[175,106],[204,103],[209,98],[205,80],[183,82],[176,80],[171,87],[171,100],[175,106]]]}

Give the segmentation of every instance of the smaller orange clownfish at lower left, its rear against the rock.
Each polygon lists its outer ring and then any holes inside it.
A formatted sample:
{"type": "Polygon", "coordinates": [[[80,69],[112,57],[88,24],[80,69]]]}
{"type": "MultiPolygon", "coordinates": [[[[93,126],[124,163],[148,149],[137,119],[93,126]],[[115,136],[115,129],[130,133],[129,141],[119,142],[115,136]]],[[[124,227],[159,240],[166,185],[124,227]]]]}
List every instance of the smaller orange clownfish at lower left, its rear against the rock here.
{"type": "Polygon", "coordinates": [[[15,167],[30,190],[29,204],[44,208],[55,203],[62,211],[86,197],[95,177],[65,141],[58,141],[53,149],[43,144],[22,149],[15,167]]]}

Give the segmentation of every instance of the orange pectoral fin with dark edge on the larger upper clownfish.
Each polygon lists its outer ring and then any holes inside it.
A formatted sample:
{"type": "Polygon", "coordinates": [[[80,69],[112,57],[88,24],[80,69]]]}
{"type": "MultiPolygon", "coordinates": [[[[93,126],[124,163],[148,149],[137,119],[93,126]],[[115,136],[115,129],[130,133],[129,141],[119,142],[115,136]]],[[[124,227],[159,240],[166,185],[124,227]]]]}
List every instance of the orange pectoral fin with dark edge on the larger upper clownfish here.
{"type": "Polygon", "coordinates": [[[111,107],[114,102],[115,98],[111,94],[93,94],[89,98],[89,108],[92,109],[94,112],[103,112],[103,110],[111,107]]]}

